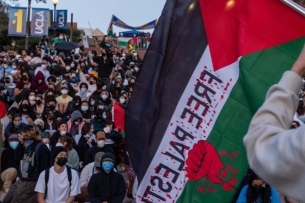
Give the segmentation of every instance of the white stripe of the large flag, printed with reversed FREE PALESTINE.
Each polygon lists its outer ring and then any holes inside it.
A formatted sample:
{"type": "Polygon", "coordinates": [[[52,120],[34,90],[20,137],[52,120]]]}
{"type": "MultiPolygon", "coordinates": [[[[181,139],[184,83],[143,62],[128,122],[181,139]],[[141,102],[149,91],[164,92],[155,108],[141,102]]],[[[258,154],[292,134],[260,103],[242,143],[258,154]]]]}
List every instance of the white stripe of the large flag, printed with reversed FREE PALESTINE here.
{"type": "MultiPolygon", "coordinates": [[[[186,171],[185,170],[179,171],[178,170],[178,167],[180,165],[179,162],[177,162],[174,159],[171,159],[169,156],[165,155],[164,153],[166,151],[168,151],[171,154],[175,155],[176,157],[179,157],[180,159],[184,160],[184,158],[181,155],[179,155],[179,153],[174,152],[175,150],[172,148],[172,146],[170,146],[171,141],[174,141],[177,143],[182,143],[183,145],[186,145],[186,146],[190,147],[190,149],[192,149],[193,145],[195,143],[197,143],[199,140],[207,139],[207,137],[209,136],[209,134],[216,122],[216,119],[217,119],[221,109],[223,108],[225,102],[227,101],[228,95],[230,94],[238,77],[239,77],[239,60],[237,60],[235,63],[233,63],[227,67],[224,67],[224,68],[218,70],[217,72],[214,72],[211,55],[210,55],[210,49],[209,49],[209,47],[206,48],[196,69],[193,72],[192,77],[189,80],[188,85],[186,86],[186,88],[182,94],[182,97],[180,98],[180,101],[171,118],[169,126],[159,145],[157,153],[155,154],[155,156],[138,188],[137,202],[142,202],[141,198],[144,196],[145,192],[147,193],[148,186],[151,187],[150,191],[155,192],[155,194],[157,194],[161,197],[165,197],[166,202],[175,202],[179,198],[179,196],[181,195],[181,193],[184,189],[184,186],[187,182],[186,171]],[[193,101],[191,106],[187,106],[187,103],[188,103],[191,95],[195,96],[197,99],[199,99],[201,101],[207,102],[207,100],[205,98],[197,96],[194,92],[195,85],[197,84],[198,79],[200,78],[200,74],[201,74],[201,72],[203,72],[205,70],[204,67],[206,67],[206,70],[209,73],[217,76],[220,80],[222,80],[223,83],[222,84],[218,83],[216,85],[215,83],[217,83],[217,81],[214,80],[212,82],[212,84],[209,84],[208,76],[205,77],[206,81],[199,80],[199,82],[205,84],[207,87],[213,89],[213,91],[216,92],[214,97],[211,97],[212,102],[211,102],[211,107],[209,108],[209,111],[203,117],[201,115],[204,110],[203,106],[200,106],[199,109],[194,110],[194,106],[195,106],[196,102],[193,101]],[[229,84],[229,86],[228,86],[228,84],[229,84]],[[215,101],[214,101],[214,99],[215,99],[215,101]],[[201,123],[201,125],[200,125],[201,127],[199,129],[196,129],[196,127],[195,127],[196,123],[197,123],[196,120],[193,120],[193,123],[188,122],[188,119],[190,117],[189,115],[187,115],[186,118],[183,118],[183,119],[181,118],[181,114],[183,113],[185,108],[191,108],[191,110],[193,110],[196,114],[200,115],[203,118],[203,122],[201,123]],[[207,123],[209,123],[209,126],[207,125],[207,123]],[[179,139],[177,139],[177,137],[172,134],[173,132],[175,132],[177,125],[179,125],[181,128],[186,130],[188,133],[192,133],[192,135],[195,138],[193,140],[188,139],[188,140],[184,140],[184,141],[180,141],[179,139]],[[156,169],[156,167],[160,163],[164,164],[165,166],[170,167],[172,170],[179,172],[178,179],[175,183],[173,183],[173,178],[175,177],[175,175],[173,173],[170,172],[170,173],[168,173],[168,177],[163,177],[166,169],[160,170],[158,174],[156,173],[156,171],[154,169],[156,169]],[[158,180],[155,180],[155,186],[153,186],[151,184],[152,176],[158,176],[159,178],[161,178],[163,180],[164,183],[168,182],[169,184],[171,184],[172,190],[169,192],[162,192],[162,190],[160,190],[160,188],[158,187],[158,184],[159,184],[158,180]]],[[[188,151],[185,150],[184,151],[185,160],[187,159],[187,156],[188,156],[188,151]]],[[[186,165],[184,165],[184,168],[185,167],[186,167],[186,165]]],[[[164,188],[167,188],[167,185],[163,185],[163,186],[164,186],[164,188]]],[[[148,197],[147,199],[150,200],[151,202],[163,202],[151,194],[147,195],[147,197],[148,197]]]]}

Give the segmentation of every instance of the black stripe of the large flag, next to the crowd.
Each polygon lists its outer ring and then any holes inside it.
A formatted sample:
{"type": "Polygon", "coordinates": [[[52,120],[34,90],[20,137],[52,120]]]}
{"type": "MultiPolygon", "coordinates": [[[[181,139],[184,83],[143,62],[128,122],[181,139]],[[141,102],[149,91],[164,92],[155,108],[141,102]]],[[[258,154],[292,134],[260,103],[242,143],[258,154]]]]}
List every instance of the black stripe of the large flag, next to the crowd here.
{"type": "Polygon", "coordinates": [[[167,1],[126,111],[128,151],[139,181],[206,46],[198,0],[167,1]]]}

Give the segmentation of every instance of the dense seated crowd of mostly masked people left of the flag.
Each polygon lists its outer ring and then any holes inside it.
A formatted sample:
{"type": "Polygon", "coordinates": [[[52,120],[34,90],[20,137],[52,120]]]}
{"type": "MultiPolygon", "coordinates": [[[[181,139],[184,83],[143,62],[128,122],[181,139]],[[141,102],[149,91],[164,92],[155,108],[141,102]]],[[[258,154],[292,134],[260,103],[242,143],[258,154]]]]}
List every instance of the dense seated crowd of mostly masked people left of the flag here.
{"type": "Polygon", "coordinates": [[[0,54],[3,202],[131,200],[136,177],[113,106],[126,108],[142,59],[107,36],[99,51],[85,52],[81,39],[57,49],[62,42],[62,33],[52,43],[43,36],[19,53],[14,41],[0,54]]]}

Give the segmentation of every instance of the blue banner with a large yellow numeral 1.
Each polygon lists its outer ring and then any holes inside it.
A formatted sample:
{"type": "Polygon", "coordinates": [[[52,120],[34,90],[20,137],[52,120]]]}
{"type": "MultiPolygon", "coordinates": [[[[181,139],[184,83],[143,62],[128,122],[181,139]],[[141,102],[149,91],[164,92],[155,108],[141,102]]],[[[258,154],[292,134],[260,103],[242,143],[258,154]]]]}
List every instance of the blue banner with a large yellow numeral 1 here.
{"type": "Polygon", "coordinates": [[[27,8],[10,7],[8,36],[25,36],[27,8]]]}

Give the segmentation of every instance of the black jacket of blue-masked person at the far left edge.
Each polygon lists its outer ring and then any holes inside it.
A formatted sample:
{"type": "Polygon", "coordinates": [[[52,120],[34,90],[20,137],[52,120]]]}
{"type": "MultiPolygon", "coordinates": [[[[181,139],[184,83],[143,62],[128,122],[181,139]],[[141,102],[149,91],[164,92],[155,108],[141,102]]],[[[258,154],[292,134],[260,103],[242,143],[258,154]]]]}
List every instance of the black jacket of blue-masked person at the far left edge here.
{"type": "Polygon", "coordinates": [[[8,168],[15,168],[19,170],[19,161],[14,159],[15,150],[11,147],[8,147],[3,150],[1,154],[1,172],[5,171],[8,168]]]}

